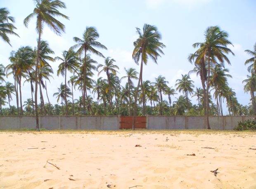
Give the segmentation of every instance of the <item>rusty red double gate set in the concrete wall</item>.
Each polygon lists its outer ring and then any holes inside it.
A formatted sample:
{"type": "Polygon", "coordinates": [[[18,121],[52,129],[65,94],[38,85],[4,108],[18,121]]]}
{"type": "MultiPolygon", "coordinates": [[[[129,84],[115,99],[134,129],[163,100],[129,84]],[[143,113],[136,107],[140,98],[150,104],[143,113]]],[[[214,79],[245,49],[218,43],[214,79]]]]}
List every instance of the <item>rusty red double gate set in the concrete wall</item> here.
{"type": "MultiPolygon", "coordinates": [[[[120,129],[121,128],[133,128],[133,117],[132,116],[120,116],[120,129]]],[[[146,128],[146,117],[136,116],[135,117],[135,128],[146,128]]]]}

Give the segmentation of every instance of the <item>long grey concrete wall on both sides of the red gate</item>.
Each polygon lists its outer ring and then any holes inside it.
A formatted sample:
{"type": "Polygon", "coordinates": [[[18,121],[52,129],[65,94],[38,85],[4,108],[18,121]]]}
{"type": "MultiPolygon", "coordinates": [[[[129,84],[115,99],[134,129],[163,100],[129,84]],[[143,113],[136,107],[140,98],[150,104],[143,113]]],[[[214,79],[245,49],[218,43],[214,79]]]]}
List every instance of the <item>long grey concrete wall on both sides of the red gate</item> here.
{"type": "MultiPolygon", "coordinates": [[[[256,118],[255,116],[211,116],[212,129],[232,130],[238,121],[256,118]]],[[[40,128],[118,130],[119,116],[40,116],[40,128]]],[[[204,129],[204,116],[147,116],[148,129],[204,129]]],[[[0,116],[0,129],[36,128],[34,116],[0,116]]]]}

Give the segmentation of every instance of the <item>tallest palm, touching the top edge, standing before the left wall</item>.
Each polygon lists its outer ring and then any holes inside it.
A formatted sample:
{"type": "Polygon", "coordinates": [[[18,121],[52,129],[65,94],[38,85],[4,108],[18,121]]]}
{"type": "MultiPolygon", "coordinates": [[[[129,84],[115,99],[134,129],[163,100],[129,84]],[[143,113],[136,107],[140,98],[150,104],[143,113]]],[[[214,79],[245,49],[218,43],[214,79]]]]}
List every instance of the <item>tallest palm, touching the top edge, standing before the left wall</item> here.
{"type": "Polygon", "coordinates": [[[37,105],[37,89],[38,89],[38,66],[39,66],[39,56],[40,56],[40,41],[41,34],[43,33],[44,23],[50,27],[57,35],[61,35],[65,31],[65,26],[57,19],[55,16],[61,16],[62,18],[69,19],[68,16],[60,13],[58,8],[66,8],[64,2],[60,0],[36,0],[36,8],[31,14],[29,14],[24,19],[24,25],[28,27],[28,22],[36,16],[36,32],[38,33],[38,43],[37,43],[37,54],[36,54],[36,87],[35,87],[35,105],[36,105],[36,130],[39,129],[39,120],[38,120],[38,105],[37,105]]]}

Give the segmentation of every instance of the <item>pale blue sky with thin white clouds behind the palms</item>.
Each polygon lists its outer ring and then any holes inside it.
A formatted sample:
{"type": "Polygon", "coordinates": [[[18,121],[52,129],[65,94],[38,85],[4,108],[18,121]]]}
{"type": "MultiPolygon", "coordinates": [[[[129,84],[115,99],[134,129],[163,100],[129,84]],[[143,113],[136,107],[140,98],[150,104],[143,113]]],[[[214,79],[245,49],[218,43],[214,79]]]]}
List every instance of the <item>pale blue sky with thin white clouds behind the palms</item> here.
{"type": "MultiPolygon", "coordinates": [[[[69,16],[70,20],[63,20],[66,26],[66,33],[61,37],[55,35],[45,26],[43,40],[47,40],[50,47],[55,51],[54,56],[60,56],[63,50],[69,49],[73,44],[73,37],[81,37],[86,26],[95,26],[100,34],[99,42],[104,44],[108,50],[101,50],[104,56],[110,56],[119,65],[119,77],[124,75],[124,67],[139,67],[132,59],[133,41],[137,39],[135,27],[142,28],[144,23],[158,27],[162,34],[162,42],[166,45],[165,55],[158,60],[158,65],[152,61],[144,67],[143,80],[162,75],[166,77],[169,86],[175,86],[176,79],[181,74],[187,74],[193,69],[193,65],[187,61],[187,56],[195,49],[192,44],[204,41],[204,30],[208,26],[220,26],[222,30],[229,33],[229,40],[234,47],[230,47],[235,56],[228,55],[233,78],[228,79],[229,86],[237,93],[239,103],[247,105],[249,94],[244,94],[242,80],[246,79],[247,67],[245,60],[249,58],[244,53],[245,49],[253,49],[256,42],[256,1],[255,0],[64,0],[66,9],[60,12],[69,16]]],[[[7,43],[1,42],[0,63],[8,65],[9,53],[17,50],[20,46],[36,46],[35,20],[31,20],[28,28],[23,25],[24,18],[33,12],[33,0],[1,0],[1,7],[7,7],[10,15],[16,19],[16,32],[20,38],[11,36],[10,47],[7,43]]],[[[92,56],[98,63],[104,59],[92,56]]],[[[52,94],[57,92],[63,77],[57,77],[58,62],[51,63],[55,71],[54,79],[51,79],[49,86],[49,97],[51,103],[56,103],[52,94]]],[[[69,74],[70,76],[71,74],[69,74]]],[[[104,73],[101,75],[105,77],[104,73]]],[[[200,79],[191,75],[194,84],[201,86],[200,79]]],[[[95,73],[94,79],[97,79],[95,73]]],[[[13,81],[12,77],[8,77],[13,81]]],[[[124,82],[122,82],[124,84],[124,82]]],[[[31,98],[30,86],[24,84],[22,87],[23,101],[31,98]]],[[[75,93],[78,98],[79,92],[75,93]]],[[[178,97],[178,96],[176,96],[178,97]]],[[[196,103],[196,98],[192,98],[196,103]]],[[[13,101],[12,104],[15,102],[13,101]]],[[[227,113],[227,110],[225,110],[227,113]]]]}

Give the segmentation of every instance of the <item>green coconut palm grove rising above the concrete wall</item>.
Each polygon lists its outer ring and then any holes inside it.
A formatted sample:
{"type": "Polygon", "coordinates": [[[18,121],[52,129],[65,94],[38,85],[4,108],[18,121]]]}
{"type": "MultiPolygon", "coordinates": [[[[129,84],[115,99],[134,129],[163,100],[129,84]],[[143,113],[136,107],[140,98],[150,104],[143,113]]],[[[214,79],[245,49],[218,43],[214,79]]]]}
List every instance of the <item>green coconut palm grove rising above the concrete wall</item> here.
{"type": "MultiPolygon", "coordinates": [[[[119,68],[113,57],[105,57],[100,50],[107,49],[99,42],[96,28],[86,27],[80,37],[73,37],[74,45],[63,49],[62,55],[54,57],[54,51],[40,35],[43,26],[50,27],[57,35],[64,32],[65,26],[55,17],[69,19],[59,12],[66,8],[59,0],[36,0],[36,8],[24,19],[28,23],[36,17],[37,47],[20,47],[12,51],[9,65],[0,64],[0,114],[1,115],[223,115],[223,106],[228,108],[230,115],[255,115],[256,90],[256,44],[254,49],[245,50],[251,58],[245,60],[249,65],[244,91],[251,95],[251,103],[242,105],[237,101],[235,91],[228,86],[227,79],[232,77],[225,68],[230,64],[228,54],[233,52],[228,48],[232,43],[228,33],[218,26],[210,26],[204,31],[205,40],[193,44],[195,52],[188,55],[188,61],[194,64],[194,69],[176,80],[174,87],[162,75],[149,80],[143,80],[143,65],[149,59],[157,63],[164,55],[165,45],[161,42],[161,33],[156,26],[145,24],[142,29],[136,28],[138,34],[134,42],[133,59],[140,64],[140,72],[132,65],[129,68],[119,68]],[[91,54],[104,58],[103,63],[91,58],[91,54]],[[58,70],[52,70],[51,63],[60,62],[58,70]],[[124,69],[126,75],[119,78],[116,73],[124,69]],[[64,81],[53,96],[58,104],[51,104],[47,93],[47,82],[53,72],[64,76],[64,81]],[[67,78],[67,72],[73,73],[67,78]],[[97,74],[98,79],[92,79],[97,74]],[[202,87],[194,88],[191,74],[201,79],[202,87]],[[6,76],[12,75],[14,84],[7,81],[6,76]],[[103,79],[106,75],[107,79],[103,79]],[[121,80],[126,84],[121,86],[121,80]],[[138,82],[135,86],[134,81],[138,82]],[[23,82],[31,85],[31,98],[22,101],[23,82]],[[39,87],[38,87],[39,86],[39,87]],[[46,91],[46,97],[43,96],[46,91]],[[81,92],[79,98],[74,98],[73,92],[81,92]],[[39,92],[39,94],[38,94],[39,92]],[[181,93],[178,98],[173,95],[181,93]],[[212,94],[211,94],[212,93],[212,94]],[[15,96],[15,97],[14,97],[15,96]],[[38,97],[39,96],[39,100],[38,97]],[[166,96],[168,100],[164,100],[166,96]],[[190,96],[197,98],[197,104],[192,104],[190,96]],[[15,100],[17,106],[11,106],[15,100]],[[46,100],[47,98],[47,100],[46,100]],[[214,103],[216,102],[216,103],[214,103]],[[225,103],[225,104],[224,104],[225,103]],[[3,108],[4,107],[4,108],[3,108]]],[[[11,44],[8,35],[14,32],[14,18],[9,16],[6,8],[0,9],[0,37],[11,44]]],[[[19,37],[17,35],[17,37],[19,37]]],[[[209,123],[208,123],[209,127],[209,123]]]]}

